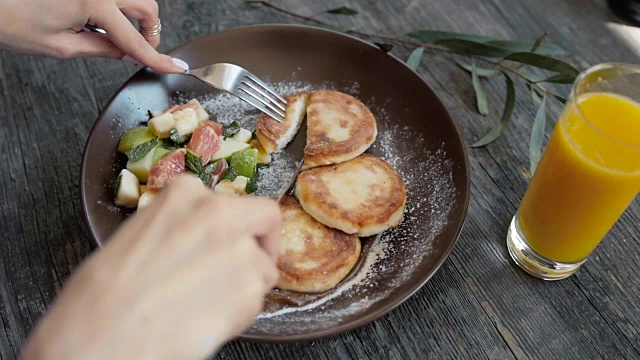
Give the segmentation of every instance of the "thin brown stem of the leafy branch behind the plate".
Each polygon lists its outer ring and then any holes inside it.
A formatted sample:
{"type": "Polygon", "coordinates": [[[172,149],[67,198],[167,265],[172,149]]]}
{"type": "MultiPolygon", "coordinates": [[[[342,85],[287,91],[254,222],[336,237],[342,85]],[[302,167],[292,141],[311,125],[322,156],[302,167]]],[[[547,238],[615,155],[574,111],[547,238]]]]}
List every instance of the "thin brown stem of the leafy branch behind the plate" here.
{"type": "MultiPolygon", "coordinates": [[[[291,16],[293,18],[310,21],[310,22],[313,22],[313,23],[316,23],[316,24],[332,25],[332,24],[326,23],[324,21],[318,20],[318,19],[316,19],[314,17],[305,16],[305,15],[293,12],[291,10],[287,10],[287,9],[285,9],[283,7],[280,7],[278,5],[275,5],[275,4],[271,3],[270,1],[266,1],[266,0],[265,1],[247,1],[247,3],[262,4],[263,6],[271,8],[271,9],[273,9],[273,10],[275,10],[277,12],[280,12],[282,14],[289,15],[289,16],[291,16]]],[[[365,32],[365,31],[351,30],[351,29],[348,30],[347,32],[350,33],[350,34],[355,34],[355,35],[364,36],[364,37],[373,37],[373,38],[377,38],[377,39],[395,41],[395,42],[402,43],[402,44],[405,44],[405,45],[421,46],[426,50],[433,50],[433,51],[439,51],[439,52],[444,52],[444,53],[449,53],[449,54],[454,54],[454,55],[466,56],[466,57],[469,57],[469,58],[474,59],[474,60],[478,60],[478,61],[482,61],[482,62],[485,62],[485,63],[489,63],[489,64],[499,68],[502,71],[510,72],[513,75],[515,75],[515,76],[521,78],[522,80],[524,80],[530,86],[535,86],[536,88],[538,88],[545,95],[551,95],[551,96],[554,96],[554,97],[560,96],[559,94],[556,94],[555,92],[553,92],[551,90],[547,90],[547,89],[539,86],[537,84],[537,82],[532,81],[529,78],[527,78],[518,69],[514,69],[512,67],[504,65],[502,60],[495,61],[495,60],[491,60],[491,59],[488,59],[488,58],[485,58],[485,57],[481,57],[481,56],[464,54],[464,53],[461,53],[459,51],[448,49],[446,47],[439,46],[439,45],[436,45],[436,44],[422,43],[420,41],[407,39],[407,38],[402,37],[402,35],[374,34],[374,33],[369,33],[369,32],[365,32]]]]}

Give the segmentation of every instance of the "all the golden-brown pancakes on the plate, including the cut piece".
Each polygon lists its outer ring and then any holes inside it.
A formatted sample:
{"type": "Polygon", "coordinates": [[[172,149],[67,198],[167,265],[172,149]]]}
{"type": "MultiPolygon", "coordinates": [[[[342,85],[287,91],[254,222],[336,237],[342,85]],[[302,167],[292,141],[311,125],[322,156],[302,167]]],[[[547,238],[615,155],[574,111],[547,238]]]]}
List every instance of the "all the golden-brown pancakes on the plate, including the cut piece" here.
{"type": "Polygon", "coordinates": [[[282,150],[307,119],[303,171],[295,197],[281,203],[278,259],[284,290],[323,292],[358,261],[359,237],[402,221],[404,182],[386,161],[363,154],[375,141],[376,120],[358,99],[337,91],[288,96],[287,116],[258,120],[256,135],[268,152],[282,150]]]}

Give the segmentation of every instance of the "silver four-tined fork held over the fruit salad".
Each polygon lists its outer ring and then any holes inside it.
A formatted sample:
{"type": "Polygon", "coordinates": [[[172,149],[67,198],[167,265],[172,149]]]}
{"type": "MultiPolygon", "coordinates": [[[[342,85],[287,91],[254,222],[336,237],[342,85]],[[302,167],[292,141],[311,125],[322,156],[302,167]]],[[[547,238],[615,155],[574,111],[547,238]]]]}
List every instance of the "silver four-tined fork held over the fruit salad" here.
{"type": "Polygon", "coordinates": [[[189,70],[191,75],[216,89],[227,91],[253,105],[277,122],[283,122],[287,100],[257,76],[238,65],[219,63],[189,70]]]}

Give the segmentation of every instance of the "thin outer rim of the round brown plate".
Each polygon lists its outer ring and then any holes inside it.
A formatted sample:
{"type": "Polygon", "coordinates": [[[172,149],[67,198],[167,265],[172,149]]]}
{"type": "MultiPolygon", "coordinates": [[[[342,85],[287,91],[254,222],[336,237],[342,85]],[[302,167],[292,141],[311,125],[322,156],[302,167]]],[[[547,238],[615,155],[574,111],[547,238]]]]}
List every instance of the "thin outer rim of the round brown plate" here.
{"type": "MultiPolygon", "coordinates": [[[[213,32],[213,33],[209,33],[209,34],[205,34],[199,37],[196,37],[188,42],[185,42],[169,51],[166,52],[167,55],[171,55],[179,50],[181,50],[182,48],[185,48],[187,46],[191,46],[192,43],[195,42],[200,42],[200,41],[206,41],[208,38],[212,38],[212,37],[217,37],[220,36],[220,34],[228,34],[228,33],[232,33],[232,32],[244,32],[244,31],[255,31],[256,29],[264,29],[264,30],[271,30],[271,29],[289,29],[289,30],[296,30],[296,29],[304,29],[304,30],[309,30],[309,31],[317,31],[317,32],[321,32],[321,33],[329,33],[332,34],[333,36],[339,36],[339,37],[343,37],[343,38],[347,38],[351,41],[355,41],[360,43],[361,45],[365,45],[368,46],[370,48],[373,49],[377,49],[379,50],[379,48],[377,46],[375,46],[374,44],[371,44],[367,41],[364,41],[358,37],[343,33],[343,32],[339,32],[339,31],[334,31],[334,30],[330,30],[330,29],[325,29],[325,28],[320,28],[320,27],[316,27],[316,26],[309,26],[309,25],[299,25],[299,24],[256,24],[256,25],[247,25],[247,26],[238,26],[238,27],[234,27],[231,29],[226,29],[223,31],[218,31],[218,32],[213,32]]],[[[418,79],[424,83],[424,85],[429,88],[431,90],[431,92],[435,95],[435,97],[438,99],[438,101],[440,102],[440,104],[443,107],[444,113],[445,115],[449,118],[451,124],[453,124],[453,130],[455,135],[458,137],[458,139],[460,140],[461,143],[461,150],[462,150],[462,155],[463,155],[463,159],[464,159],[464,173],[466,176],[466,182],[465,182],[465,188],[464,190],[464,199],[463,199],[463,204],[462,204],[462,216],[460,218],[460,220],[458,221],[458,223],[455,226],[455,238],[453,239],[453,241],[450,243],[450,245],[445,249],[445,251],[443,252],[443,255],[441,256],[441,258],[437,261],[437,263],[435,264],[434,270],[431,272],[431,274],[427,275],[426,277],[424,277],[423,279],[421,279],[420,281],[415,282],[412,286],[409,287],[409,289],[403,293],[403,294],[398,294],[398,296],[395,298],[395,300],[393,300],[392,302],[390,302],[389,304],[382,306],[381,308],[377,309],[374,312],[365,314],[364,316],[357,318],[353,321],[338,325],[336,327],[333,328],[329,328],[329,329],[322,329],[322,330],[318,330],[315,332],[310,332],[310,333],[305,333],[302,335],[289,335],[286,337],[280,337],[280,336],[262,336],[262,335],[250,335],[250,334],[241,334],[238,337],[235,338],[235,340],[242,340],[242,341],[249,341],[249,342],[255,342],[255,343],[295,343],[295,342],[302,342],[302,341],[311,341],[311,340],[319,340],[319,339],[324,339],[327,337],[331,337],[331,336],[336,336],[339,334],[343,334],[347,331],[351,331],[354,330],[356,328],[365,326],[367,324],[370,324],[371,322],[381,318],[382,316],[388,314],[389,312],[391,312],[392,310],[394,310],[395,308],[397,308],[398,306],[400,306],[401,304],[403,304],[405,301],[407,301],[410,297],[412,297],[413,295],[415,295],[416,292],[418,292],[418,290],[420,290],[426,283],[429,282],[429,280],[431,280],[431,278],[440,270],[440,268],[442,267],[442,265],[444,264],[444,262],[449,258],[449,256],[451,255],[451,252],[453,251],[453,248],[455,247],[456,243],[458,242],[458,239],[460,238],[460,234],[462,233],[462,229],[464,227],[464,224],[466,222],[467,219],[467,213],[469,210],[469,201],[470,201],[470,197],[471,197],[471,174],[470,174],[470,170],[469,170],[469,154],[468,154],[468,149],[466,146],[466,142],[464,141],[464,137],[462,136],[462,132],[460,131],[460,127],[458,126],[458,124],[455,122],[453,116],[451,115],[451,112],[449,111],[449,109],[447,108],[447,106],[445,105],[444,101],[442,101],[441,97],[438,95],[438,93],[431,87],[431,85],[429,85],[429,83],[420,75],[418,74],[415,70],[413,70],[411,67],[409,67],[404,61],[400,60],[397,56],[391,54],[391,53],[387,53],[388,56],[390,56],[396,63],[400,63],[401,66],[406,67],[408,70],[413,72],[413,75],[418,77],[418,79]]],[[[140,70],[136,71],[133,75],[131,75],[131,77],[129,77],[129,79],[127,79],[127,81],[124,82],[124,84],[122,84],[122,86],[120,86],[115,92],[114,94],[111,96],[111,98],[109,99],[109,101],[107,101],[107,103],[104,105],[104,107],[102,108],[102,110],[100,111],[100,113],[98,114],[92,128],[91,131],[89,132],[89,135],[87,137],[87,142],[84,146],[83,149],[83,154],[82,154],[82,162],[80,165],[80,203],[81,203],[81,208],[82,208],[82,217],[84,220],[84,223],[87,227],[87,233],[89,235],[89,240],[91,241],[91,245],[94,248],[97,247],[102,247],[102,243],[101,241],[99,241],[93,226],[91,224],[91,220],[89,219],[89,214],[88,214],[88,207],[87,207],[87,198],[86,198],[86,189],[85,189],[85,183],[86,183],[86,172],[85,172],[85,167],[86,164],[88,162],[88,152],[87,149],[89,148],[92,139],[97,137],[97,124],[98,124],[98,120],[100,120],[100,118],[103,116],[103,114],[105,113],[106,109],[108,109],[111,104],[115,101],[115,99],[120,95],[120,93],[122,93],[122,91],[129,85],[129,83],[135,78],[137,77],[140,73],[145,72],[145,71],[149,71],[148,68],[143,67],[140,70]]]]}

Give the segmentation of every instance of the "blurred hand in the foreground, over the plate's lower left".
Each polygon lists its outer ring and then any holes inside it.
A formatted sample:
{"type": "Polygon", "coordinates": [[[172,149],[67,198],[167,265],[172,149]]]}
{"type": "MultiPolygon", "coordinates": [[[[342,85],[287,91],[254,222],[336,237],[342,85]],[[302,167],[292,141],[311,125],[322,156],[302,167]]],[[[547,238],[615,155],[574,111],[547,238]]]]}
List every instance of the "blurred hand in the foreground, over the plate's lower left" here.
{"type": "Polygon", "coordinates": [[[278,271],[280,212],[183,176],[70,279],[24,359],[200,359],[262,309],[278,271]]]}

